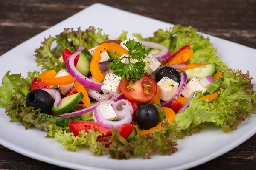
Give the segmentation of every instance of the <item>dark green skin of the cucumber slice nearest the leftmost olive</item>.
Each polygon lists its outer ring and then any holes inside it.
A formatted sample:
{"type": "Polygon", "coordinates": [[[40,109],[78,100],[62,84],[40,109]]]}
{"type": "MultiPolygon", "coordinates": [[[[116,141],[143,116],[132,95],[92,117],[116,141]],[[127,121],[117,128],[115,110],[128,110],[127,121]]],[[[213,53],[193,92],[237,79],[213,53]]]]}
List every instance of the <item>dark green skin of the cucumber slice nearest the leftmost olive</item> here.
{"type": "MultiPolygon", "coordinates": [[[[73,94],[73,95],[75,95],[75,94],[73,94]]],[[[67,97],[69,97],[69,96],[67,96],[67,97]]],[[[67,113],[68,111],[71,111],[73,108],[75,108],[76,105],[79,104],[79,102],[81,102],[83,97],[84,97],[84,95],[80,92],[78,94],[78,96],[72,102],[70,102],[68,105],[66,105],[64,108],[58,110],[58,108],[52,107],[52,111],[54,111],[56,115],[61,115],[61,114],[67,113]]]]}

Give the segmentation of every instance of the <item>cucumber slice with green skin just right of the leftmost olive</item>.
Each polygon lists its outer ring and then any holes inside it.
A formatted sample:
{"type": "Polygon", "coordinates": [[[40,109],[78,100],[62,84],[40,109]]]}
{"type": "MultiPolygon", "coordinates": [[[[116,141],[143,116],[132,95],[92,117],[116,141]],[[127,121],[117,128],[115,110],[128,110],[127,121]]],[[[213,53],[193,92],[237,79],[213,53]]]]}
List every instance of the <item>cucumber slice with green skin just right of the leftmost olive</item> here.
{"type": "Polygon", "coordinates": [[[57,115],[61,115],[71,111],[73,108],[76,107],[79,102],[83,99],[84,95],[80,93],[73,94],[71,96],[64,97],[61,99],[61,103],[58,108],[52,107],[52,111],[55,112],[57,115]]]}

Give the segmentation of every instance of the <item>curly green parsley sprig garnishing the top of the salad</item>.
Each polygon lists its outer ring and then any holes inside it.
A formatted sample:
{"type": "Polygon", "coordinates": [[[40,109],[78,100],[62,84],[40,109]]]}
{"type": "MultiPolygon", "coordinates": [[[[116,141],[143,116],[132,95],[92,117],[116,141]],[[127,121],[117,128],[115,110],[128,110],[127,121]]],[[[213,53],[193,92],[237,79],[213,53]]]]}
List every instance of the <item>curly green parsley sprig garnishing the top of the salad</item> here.
{"type": "Polygon", "coordinates": [[[122,79],[138,80],[144,74],[146,63],[143,60],[148,52],[140,42],[134,40],[128,40],[124,45],[128,48],[129,57],[110,57],[108,67],[122,79]],[[122,63],[122,59],[125,58],[127,58],[128,64],[122,63]],[[136,59],[138,62],[131,62],[131,59],[136,59]]]}

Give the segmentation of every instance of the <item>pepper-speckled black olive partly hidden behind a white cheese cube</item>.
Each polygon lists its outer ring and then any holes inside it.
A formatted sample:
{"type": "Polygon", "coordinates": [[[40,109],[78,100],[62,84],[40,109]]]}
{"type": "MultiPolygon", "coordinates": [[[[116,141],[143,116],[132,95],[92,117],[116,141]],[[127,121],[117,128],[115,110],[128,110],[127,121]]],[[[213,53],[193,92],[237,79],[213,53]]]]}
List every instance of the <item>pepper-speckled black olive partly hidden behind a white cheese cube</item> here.
{"type": "Polygon", "coordinates": [[[156,72],[156,82],[159,82],[163,77],[173,79],[175,82],[180,84],[180,73],[175,68],[169,66],[160,68],[156,72]]]}

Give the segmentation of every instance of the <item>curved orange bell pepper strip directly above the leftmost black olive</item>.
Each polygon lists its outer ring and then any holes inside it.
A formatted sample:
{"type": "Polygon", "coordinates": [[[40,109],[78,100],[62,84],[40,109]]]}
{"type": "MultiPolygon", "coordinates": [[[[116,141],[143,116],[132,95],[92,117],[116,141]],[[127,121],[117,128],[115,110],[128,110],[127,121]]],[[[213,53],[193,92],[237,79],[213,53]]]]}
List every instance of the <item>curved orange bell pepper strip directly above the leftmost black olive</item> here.
{"type": "Polygon", "coordinates": [[[55,78],[56,75],[57,73],[55,70],[48,70],[40,74],[40,79],[47,85],[68,85],[75,81],[71,75],[55,78]]]}

